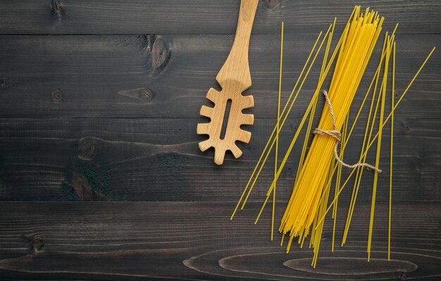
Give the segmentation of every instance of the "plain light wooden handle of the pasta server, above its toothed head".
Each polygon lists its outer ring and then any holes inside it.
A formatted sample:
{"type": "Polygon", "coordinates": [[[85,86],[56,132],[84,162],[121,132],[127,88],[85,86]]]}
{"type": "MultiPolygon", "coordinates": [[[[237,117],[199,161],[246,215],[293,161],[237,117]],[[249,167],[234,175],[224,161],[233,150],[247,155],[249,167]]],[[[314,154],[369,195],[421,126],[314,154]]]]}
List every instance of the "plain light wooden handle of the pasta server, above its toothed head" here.
{"type": "Polygon", "coordinates": [[[223,88],[228,87],[231,81],[240,82],[243,88],[241,92],[251,86],[248,47],[258,4],[259,0],[242,0],[240,2],[235,41],[232,44],[227,60],[216,76],[216,80],[223,88]]]}

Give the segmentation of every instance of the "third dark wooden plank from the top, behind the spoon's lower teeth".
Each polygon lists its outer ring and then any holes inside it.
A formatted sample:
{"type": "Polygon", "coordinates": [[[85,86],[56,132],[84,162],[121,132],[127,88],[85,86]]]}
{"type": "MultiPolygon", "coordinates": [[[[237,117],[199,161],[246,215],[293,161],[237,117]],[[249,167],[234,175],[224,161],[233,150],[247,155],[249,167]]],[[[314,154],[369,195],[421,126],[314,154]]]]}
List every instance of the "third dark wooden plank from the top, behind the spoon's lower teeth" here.
{"type": "MultiPolygon", "coordinates": [[[[200,122],[204,119],[1,119],[0,198],[236,201],[275,120],[256,119],[251,127],[251,142],[240,145],[244,151],[242,158],[235,161],[228,153],[222,167],[213,163],[213,151],[199,151],[197,142],[204,139],[204,136],[196,135],[196,126],[200,122]]],[[[364,135],[366,119],[359,122],[345,153],[349,163],[357,161],[364,135]]],[[[282,151],[286,151],[298,124],[298,118],[287,121],[280,135],[280,155],[285,153],[282,151]]],[[[441,200],[441,136],[437,129],[440,124],[439,119],[397,119],[395,201],[441,200]]],[[[384,168],[385,173],[379,177],[379,201],[388,200],[388,135],[385,130],[384,153],[380,161],[380,168],[384,168]]],[[[301,138],[294,146],[280,178],[280,198],[287,198],[292,192],[302,142],[301,138]]],[[[369,157],[368,161],[372,163],[373,158],[369,157]]],[[[272,165],[263,169],[251,201],[263,199],[273,179],[272,169],[272,165]]],[[[371,184],[372,173],[366,172],[360,201],[371,200],[371,184]]],[[[349,188],[342,200],[347,200],[349,188]]]]}

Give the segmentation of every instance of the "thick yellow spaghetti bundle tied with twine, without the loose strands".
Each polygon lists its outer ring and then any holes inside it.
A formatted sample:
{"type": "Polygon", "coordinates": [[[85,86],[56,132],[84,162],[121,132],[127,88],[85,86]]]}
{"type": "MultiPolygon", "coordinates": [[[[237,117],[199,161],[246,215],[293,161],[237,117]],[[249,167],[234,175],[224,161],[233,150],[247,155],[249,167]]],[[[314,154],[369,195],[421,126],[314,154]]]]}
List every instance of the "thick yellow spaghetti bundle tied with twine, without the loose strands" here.
{"type": "MultiPolygon", "coordinates": [[[[349,107],[352,104],[356,90],[375,44],[380,35],[383,18],[378,13],[366,9],[360,13],[356,7],[347,30],[342,34],[342,45],[335,65],[328,96],[334,108],[335,124],[331,118],[330,107],[325,106],[318,127],[327,131],[342,130],[349,107]]],[[[306,156],[302,170],[294,183],[294,191],[282,217],[280,232],[289,234],[290,240],[299,237],[299,242],[308,234],[313,220],[318,217],[319,211],[324,211],[321,202],[323,196],[328,196],[329,190],[326,180],[330,173],[331,163],[334,161],[335,137],[316,135],[306,156]]],[[[314,247],[314,244],[312,245],[314,247]]],[[[290,243],[287,249],[289,250],[290,243]]]]}

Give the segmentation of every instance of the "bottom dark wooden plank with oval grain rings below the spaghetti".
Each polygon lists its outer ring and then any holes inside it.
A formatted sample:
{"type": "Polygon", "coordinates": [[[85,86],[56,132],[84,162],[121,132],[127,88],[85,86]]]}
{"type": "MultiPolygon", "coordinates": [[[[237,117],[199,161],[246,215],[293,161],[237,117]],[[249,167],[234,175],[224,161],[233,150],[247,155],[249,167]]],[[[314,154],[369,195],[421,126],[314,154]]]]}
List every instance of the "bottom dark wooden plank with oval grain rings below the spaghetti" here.
{"type": "MultiPolygon", "coordinates": [[[[259,204],[228,220],[221,202],[1,202],[2,280],[436,280],[441,276],[439,204],[396,204],[392,261],[387,205],[378,204],[371,262],[366,261],[370,204],[359,204],[347,244],[330,253],[326,220],[321,254],[280,248],[269,239],[269,213],[253,225],[259,204]],[[31,211],[32,210],[32,211],[31,211]],[[284,265],[285,263],[285,265],[284,265]],[[157,278],[157,279],[154,279],[157,278]],[[251,279],[252,278],[252,279],[251,279]]],[[[278,204],[278,216],[284,204],[278,204]]],[[[340,206],[337,235],[344,224],[340,206]]],[[[339,236],[340,237],[340,236],[339,236]]],[[[337,239],[337,241],[340,238],[337,239]]]]}

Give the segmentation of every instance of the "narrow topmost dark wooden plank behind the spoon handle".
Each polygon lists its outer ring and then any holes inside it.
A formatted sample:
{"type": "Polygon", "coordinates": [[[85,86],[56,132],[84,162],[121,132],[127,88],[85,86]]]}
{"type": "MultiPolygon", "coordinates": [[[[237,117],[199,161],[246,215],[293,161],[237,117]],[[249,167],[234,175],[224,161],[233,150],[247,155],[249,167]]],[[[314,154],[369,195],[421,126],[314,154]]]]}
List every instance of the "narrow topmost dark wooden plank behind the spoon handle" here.
{"type": "MultiPolygon", "coordinates": [[[[316,32],[338,17],[340,25],[354,5],[370,6],[386,18],[385,27],[400,33],[439,34],[439,1],[282,1],[259,3],[255,34],[316,32]]],[[[0,1],[1,34],[234,34],[239,1],[0,1]]]]}

